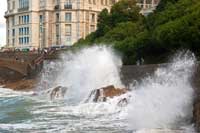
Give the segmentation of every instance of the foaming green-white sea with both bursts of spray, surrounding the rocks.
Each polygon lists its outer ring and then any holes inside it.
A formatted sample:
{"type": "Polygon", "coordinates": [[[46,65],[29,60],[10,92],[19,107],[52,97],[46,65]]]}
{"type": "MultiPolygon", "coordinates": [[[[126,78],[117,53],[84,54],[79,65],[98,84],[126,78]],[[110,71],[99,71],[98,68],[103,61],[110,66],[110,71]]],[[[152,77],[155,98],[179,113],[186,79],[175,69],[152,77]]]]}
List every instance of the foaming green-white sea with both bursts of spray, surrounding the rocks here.
{"type": "Polygon", "coordinates": [[[127,94],[95,103],[85,102],[92,90],[125,87],[120,56],[106,46],[68,52],[45,64],[32,92],[0,88],[0,133],[194,133],[195,62],[192,53],[179,53],[127,94]],[[64,97],[50,97],[56,86],[68,88],[64,97]],[[124,98],[128,105],[119,106],[124,98]]]}

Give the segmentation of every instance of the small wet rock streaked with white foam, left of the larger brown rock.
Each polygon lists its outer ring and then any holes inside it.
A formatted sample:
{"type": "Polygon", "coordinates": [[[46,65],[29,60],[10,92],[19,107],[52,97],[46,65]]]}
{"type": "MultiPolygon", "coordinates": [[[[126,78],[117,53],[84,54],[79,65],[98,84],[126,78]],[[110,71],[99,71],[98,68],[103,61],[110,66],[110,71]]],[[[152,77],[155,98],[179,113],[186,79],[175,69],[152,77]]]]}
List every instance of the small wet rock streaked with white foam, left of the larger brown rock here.
{"type": "Polygon", "coordinates": [[[51,100],[54,100],[64,98],[67,89],[67,87],[57,86],[56,88],[49,90],[47,93],[50,95],[51,100]]]}

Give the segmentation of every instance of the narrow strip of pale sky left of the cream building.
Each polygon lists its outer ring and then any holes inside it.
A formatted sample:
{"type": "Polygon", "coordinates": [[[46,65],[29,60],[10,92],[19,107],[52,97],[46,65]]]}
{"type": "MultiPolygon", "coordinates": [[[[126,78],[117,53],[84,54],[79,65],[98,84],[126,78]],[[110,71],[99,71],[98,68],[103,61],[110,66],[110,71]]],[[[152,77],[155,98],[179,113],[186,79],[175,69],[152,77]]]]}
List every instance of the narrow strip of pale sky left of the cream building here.
{"type": "Polygon", "coordinates": [[[0,46],[6,44],[6,20],[4,14],[7,8],[7,0],[0,0],[0,46]]]}

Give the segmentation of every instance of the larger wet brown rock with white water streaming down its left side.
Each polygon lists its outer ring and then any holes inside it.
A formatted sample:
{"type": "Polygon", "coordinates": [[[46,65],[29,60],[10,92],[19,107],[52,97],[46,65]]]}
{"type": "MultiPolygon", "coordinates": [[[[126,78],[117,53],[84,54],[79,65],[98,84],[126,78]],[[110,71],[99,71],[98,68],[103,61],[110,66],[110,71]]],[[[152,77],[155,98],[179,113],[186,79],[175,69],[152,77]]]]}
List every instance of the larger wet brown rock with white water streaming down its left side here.
{"type": "MultiPolygon", "coordinates": [[[[105,102],[107,98],[113,98],[115,96],[120,96],[122,94],[125,94],[128,92],[128,89],[120,89],[120,88],[115,88],[113,85],[103,87],[97,90],[93,90],[89,98],[86,100],[86,102],[105,102]]],[[[125,101],[125,100],[124,100],[125,101]]],[[[121,101],[123,102],[123,101],[121,101]]]]}

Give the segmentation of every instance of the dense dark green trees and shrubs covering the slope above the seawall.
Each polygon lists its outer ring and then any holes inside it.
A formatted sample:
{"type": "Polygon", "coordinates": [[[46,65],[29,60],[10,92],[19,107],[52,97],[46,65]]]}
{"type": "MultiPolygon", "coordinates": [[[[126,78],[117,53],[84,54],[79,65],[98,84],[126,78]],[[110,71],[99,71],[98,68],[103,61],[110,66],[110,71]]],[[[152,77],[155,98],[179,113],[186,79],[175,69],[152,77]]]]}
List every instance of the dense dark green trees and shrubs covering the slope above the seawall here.
{"type": "Polygon", "coordinates": [[[97,31],[76,46],[112,45],[124,64],[161,63],[179,49],[200,56],[200,0],[161,0],[147,17],[134,0],[121,0],[98,16],[97,31]]]}

